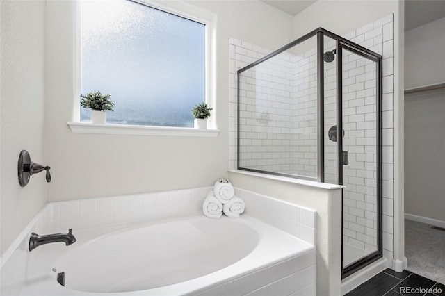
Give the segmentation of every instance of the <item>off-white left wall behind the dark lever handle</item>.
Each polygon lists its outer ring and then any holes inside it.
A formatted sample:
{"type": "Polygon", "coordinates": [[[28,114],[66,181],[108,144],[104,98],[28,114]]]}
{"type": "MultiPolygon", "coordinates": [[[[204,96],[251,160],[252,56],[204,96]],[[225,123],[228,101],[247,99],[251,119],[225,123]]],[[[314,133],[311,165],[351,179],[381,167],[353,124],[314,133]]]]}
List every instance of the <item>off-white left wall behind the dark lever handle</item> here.
{"type": "Polygon", "coordinates": [[[22,188],[19,152],[47,164],[44,154],[45,2],[1,1],[1,255],[47,201],[44,173],[22,188]]]}

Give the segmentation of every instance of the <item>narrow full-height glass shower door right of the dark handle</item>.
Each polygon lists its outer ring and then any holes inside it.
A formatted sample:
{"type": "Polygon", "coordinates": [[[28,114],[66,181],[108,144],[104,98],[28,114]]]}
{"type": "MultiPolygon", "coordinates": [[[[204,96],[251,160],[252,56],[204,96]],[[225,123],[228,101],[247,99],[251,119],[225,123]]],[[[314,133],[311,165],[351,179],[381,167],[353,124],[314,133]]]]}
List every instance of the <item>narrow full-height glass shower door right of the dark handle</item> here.
{"type": "MultiPolygon", "coordinates": [[[[343,272],[381,256],[379,60],[339,44],[343,272]]],[[[338,131],[337,131],[338,134],[338,131]]],[[[337,137],[338,139],[339,137],[337,137]]]]}

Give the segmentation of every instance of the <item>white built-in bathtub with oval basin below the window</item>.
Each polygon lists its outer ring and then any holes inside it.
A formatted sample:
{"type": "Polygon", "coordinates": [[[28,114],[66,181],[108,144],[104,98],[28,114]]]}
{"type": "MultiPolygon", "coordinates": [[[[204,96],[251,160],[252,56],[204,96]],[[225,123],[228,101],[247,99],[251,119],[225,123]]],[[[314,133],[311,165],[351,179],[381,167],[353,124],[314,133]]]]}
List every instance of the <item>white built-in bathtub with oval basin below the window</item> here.
{"type": "Polygon", "coordinates": [[[280,289],[314,287],[316,277],[314,245],[248,215],[74,235],[69,247],[54,243],[31,252],[21,295],[281,295],[280,289]],[[56,281],[60,272],[65,287],[56,281]]]}

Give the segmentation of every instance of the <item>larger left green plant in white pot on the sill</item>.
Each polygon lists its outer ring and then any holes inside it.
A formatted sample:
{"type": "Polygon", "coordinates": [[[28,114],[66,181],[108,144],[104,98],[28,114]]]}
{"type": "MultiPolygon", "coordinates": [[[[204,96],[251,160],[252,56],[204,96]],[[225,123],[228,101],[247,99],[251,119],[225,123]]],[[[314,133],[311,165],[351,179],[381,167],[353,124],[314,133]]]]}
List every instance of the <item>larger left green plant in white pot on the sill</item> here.
{"type": "Polygon", "coordinates": [[[81,106],[91,109],[91,123],[106,124],[106,111],[113,111],[114,103],[110,95],[102,95],[99,91],[81,94],[81,106]]]}

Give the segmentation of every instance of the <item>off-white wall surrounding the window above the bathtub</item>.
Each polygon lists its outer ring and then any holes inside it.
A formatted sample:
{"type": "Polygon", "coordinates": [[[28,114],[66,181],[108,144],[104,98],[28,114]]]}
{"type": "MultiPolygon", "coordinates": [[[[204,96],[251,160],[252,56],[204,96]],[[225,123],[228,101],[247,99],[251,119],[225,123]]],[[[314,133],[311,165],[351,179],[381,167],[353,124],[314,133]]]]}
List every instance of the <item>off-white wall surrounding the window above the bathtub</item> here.
{"type": "Polygon", "coordinates": [[[45,131],[54,176],[49,200],[209,186],[226,176],[229,37],[278,47],[291,39],[292,18],[259,1],[191,3],[216,19],[217,138],[72,133],[67,122],[72,121],[74,99],[75,6],[73,1],[48,1],[45,131]]]}

